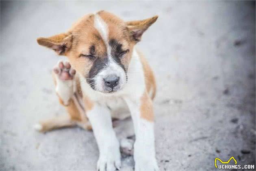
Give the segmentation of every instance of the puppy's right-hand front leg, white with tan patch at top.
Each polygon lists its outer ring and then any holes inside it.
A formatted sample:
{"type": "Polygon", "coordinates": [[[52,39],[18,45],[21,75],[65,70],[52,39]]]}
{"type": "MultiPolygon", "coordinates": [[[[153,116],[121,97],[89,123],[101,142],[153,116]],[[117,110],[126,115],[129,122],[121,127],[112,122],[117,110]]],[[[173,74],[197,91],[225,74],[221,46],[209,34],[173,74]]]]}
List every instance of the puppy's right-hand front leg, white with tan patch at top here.
{"type": "Polygon", "coordinates": [[[145,92],[140,97],[127,97],[135,128],[135,171],[158,171],[154,143],[154,112],[152,100],[145,92]]]}

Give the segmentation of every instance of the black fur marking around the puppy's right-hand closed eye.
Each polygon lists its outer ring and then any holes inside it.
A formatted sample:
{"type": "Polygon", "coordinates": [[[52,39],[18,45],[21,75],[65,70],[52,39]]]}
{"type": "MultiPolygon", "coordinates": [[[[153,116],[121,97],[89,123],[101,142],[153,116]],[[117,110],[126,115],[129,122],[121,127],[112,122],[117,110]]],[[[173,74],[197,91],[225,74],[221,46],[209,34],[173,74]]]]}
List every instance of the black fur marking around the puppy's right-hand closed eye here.
{"type": "Polygon", "coordinates": [[[118,43],[115,39],[111,39],[109,41],[109,46],[111,47],[112,58],[116,61],[118,65],[120,65],[124,69],[124,72],[126,73],[126,68],[121,63],[121,54],[124,52],[124,50],[122,49],[122,44],[118,43]]]}

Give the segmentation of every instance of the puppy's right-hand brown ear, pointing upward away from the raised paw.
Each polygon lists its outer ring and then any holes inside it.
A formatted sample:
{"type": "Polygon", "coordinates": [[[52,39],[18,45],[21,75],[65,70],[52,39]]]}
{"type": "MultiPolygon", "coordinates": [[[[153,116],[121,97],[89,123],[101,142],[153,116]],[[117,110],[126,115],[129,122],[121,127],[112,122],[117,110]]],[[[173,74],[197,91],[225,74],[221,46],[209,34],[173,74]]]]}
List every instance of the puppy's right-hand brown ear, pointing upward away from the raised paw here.
{"type": "Polygon", "coordinates": [[[157,18],[158,16],[156,15],[149,19],[126,22],[126,27],[130,32],[131,39],[135,42],[139,42],[142,34],[156,21],[157,18]]]}

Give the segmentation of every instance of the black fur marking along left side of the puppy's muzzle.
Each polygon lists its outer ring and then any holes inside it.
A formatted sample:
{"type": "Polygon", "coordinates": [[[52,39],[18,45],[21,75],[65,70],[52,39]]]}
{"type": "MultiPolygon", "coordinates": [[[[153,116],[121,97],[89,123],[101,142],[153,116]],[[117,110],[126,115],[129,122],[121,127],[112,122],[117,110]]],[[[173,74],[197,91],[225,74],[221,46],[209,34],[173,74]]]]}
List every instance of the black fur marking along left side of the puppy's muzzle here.
{"type": "MultiPolygon", "coordinates": [[[[94,47],[94,51],[95,51],[95,47],[94,47]]],[[[89,79],[87,79],[88,84],[91,86],[91,88],[93,90],[95,90],[95,87],[94,87],[95,81],[92,79],[100,72],[100,70],[102,70],[104,67],[106,67],[107,63],[108,63],[108,58],[107,58],[106,53],[104,54],[103,58],[98,57],[93,61],[93,65],[92,65],[91,70],[89,71],[89,75],[88,75],[89,79]]]]}

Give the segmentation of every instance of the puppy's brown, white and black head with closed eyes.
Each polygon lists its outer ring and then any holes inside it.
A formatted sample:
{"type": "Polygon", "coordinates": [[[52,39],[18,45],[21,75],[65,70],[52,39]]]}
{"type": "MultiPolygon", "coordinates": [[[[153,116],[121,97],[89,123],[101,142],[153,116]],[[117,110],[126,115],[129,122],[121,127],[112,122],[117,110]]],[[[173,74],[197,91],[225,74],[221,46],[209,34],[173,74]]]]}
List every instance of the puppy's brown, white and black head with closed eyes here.
{"type": "Polygon", "coordinates": [[[124,88],[133,46],[156,19],[124,22],[100,11],[82,17],[66,33],[37,42],[67,56],[93,90],[113,93],[124,88]]]}

